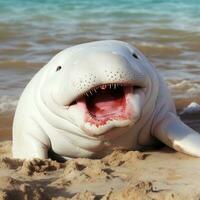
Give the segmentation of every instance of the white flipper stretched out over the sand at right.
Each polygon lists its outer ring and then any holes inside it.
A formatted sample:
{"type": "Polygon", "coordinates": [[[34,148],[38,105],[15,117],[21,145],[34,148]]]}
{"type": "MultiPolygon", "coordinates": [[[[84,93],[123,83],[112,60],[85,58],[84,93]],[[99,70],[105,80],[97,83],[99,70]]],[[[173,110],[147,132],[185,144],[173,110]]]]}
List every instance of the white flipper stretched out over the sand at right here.
{"type": "Polygon", "coordinates": [[[154,136],[173,149],[200,157],[200,134],[168,112],[154,129],[154,136]]]}

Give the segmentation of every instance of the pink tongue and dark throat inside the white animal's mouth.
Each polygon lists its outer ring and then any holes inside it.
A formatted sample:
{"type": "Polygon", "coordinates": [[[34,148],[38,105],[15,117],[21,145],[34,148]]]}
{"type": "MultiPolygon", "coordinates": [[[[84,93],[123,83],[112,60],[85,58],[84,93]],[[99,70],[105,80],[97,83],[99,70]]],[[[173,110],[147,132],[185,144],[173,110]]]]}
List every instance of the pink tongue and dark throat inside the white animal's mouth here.
{"type": "Polygon", "coordinates": [[[123,89],[121,91],[100,90],[89,99],[87,106],[89,112],[96,118],[119,115],[125,108],[123,89]]]}

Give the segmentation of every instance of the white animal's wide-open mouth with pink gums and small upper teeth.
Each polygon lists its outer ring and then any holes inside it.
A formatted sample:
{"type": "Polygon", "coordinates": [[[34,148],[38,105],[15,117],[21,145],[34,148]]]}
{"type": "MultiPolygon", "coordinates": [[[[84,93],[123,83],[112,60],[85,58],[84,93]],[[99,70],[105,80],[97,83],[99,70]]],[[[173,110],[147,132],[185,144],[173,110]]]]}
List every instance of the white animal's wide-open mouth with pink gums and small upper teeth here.
{"type": "Polygon", "coordinates": [[[85,121],[99,126],[130,117],[127,95],[132,91],[133,86],[129,84],[103,84],[90,89],[76,102],[85,112],[85,121]]]}

